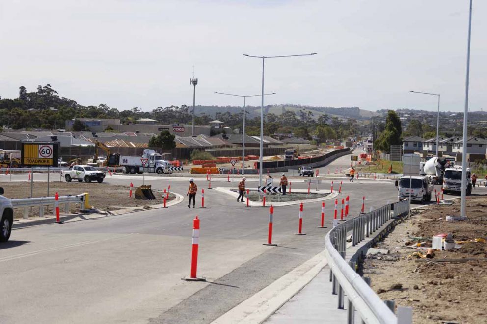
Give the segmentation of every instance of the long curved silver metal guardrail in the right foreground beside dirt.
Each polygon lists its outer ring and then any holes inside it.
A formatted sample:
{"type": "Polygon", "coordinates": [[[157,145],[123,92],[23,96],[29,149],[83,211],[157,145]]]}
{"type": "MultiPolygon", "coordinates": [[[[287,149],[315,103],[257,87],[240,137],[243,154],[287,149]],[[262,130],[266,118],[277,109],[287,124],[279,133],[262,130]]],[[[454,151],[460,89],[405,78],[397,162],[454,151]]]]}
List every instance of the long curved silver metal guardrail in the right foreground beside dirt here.
{"type": "MultiPolygon", "coordinates": [[[[348,322],[354,322],[354,310],[356,309],[365,323],[395,324],[412,321],[410,312],[405,307],[398,307],[398,314],[386,305],[379,296],[370,288],[367,282],[355,272],[355,262],[345,261],[347,250],[347,236],[352,232],[352,246],[356,246],[367,237],[378,235],[374,232],[389,222],[392,218],[404,216],[409,211],[409,201],[403,200],[388,204],[379,209],[362,214],[350,219],[328,232],[325,237],[325,254],[330,267],[330,281],[332,294],[338,294],[338,308],[344,308],[344,296],[348,299],[348,322]],[[406,310],[406,311],[405,311],[406,310]],[[403,311],[407,314],[402,318],[403,311]],[[405,322],[403,322],[405,321],[405,322]]],[[[358,254],[357,250],[355,254],[358,254]]],[[[356,256],[356,255],[353,256],[356,256]]],[[[392,307],[392,309],[394,309],[392,307]]],[[[410,322],[409,322],[410,323],[410,322]]]]}

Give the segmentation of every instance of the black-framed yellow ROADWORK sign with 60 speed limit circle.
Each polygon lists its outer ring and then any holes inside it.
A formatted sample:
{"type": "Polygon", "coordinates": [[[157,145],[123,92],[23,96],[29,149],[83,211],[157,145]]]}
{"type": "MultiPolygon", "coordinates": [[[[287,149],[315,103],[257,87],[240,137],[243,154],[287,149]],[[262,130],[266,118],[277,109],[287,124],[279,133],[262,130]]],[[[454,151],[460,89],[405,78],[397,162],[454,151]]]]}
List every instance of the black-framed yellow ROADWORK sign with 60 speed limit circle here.
{"type": "Polygon", "coordinates": [[[59,143],[23,142],[21,163],[28,167],[57,167],[59,143]]]}

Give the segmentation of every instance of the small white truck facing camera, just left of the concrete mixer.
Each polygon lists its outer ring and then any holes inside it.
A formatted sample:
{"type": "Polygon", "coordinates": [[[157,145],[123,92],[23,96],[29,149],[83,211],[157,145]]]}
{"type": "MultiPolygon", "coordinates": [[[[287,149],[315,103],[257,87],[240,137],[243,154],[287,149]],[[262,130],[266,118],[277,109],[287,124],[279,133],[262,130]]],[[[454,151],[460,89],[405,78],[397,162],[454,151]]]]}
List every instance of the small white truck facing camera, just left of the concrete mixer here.
{"type": "Polygon", "coordinates": [[[398,188],[399,201],[409,199],[410,194],[411,201],[428,202],[431,201],[434,186],[426,176],[403,176],[396,180],[396,188],[398,188]]]}

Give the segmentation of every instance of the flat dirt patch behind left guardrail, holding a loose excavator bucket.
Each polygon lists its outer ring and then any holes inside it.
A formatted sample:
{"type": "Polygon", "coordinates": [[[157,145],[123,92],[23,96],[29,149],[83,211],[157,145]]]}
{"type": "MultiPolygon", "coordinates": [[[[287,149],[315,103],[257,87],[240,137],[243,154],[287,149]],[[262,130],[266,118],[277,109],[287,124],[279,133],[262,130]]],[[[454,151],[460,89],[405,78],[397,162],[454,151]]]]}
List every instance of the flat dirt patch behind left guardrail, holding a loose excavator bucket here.
{"type": "MultiPolygon", "coordinates": [[[[0,186],[5,190],[4,196],[7,198],[28,198],[30,197],[30,183],[29,182],[1,182],[0,186]]],[[[132,194],[135,194],[136,187],[133,188],[132,194]]],[[[84,192],[89,193],[89,203],[100,211],[116,210],[124,207],[144,207],[163,203],[160,191],[163,188],[152,188],[156,200],[137,200],[129,199],[129,187],[109,185],[105,183],[85,183],[85,182],[51,182],[49,188],[49,196],[54,196],[56,192],[59,196],[79,195],[84,192]],[[157,190],[156,190],[157,189],[157,190]]],[[[34,197],[47,196],[47,182],[34,182],[34,197]]],[[[169,200],[174,199],[175,196],[169,195],[169,200]]],[[[72,206],[75,206],[74,204],[72,206]]],[[[72,209],[72,212],[76,210],[72,209]]],[[[52,212],[52,211],[51,211],[52,212]]],[[[48,213],[45,211],[45,213],[48,213]]],[[[32,209],[31,216],[38,216],[38,208],[32,209]]],[[[22,218],[23,210],[21,208],[14,209],[14,217],[22,218]]]]}

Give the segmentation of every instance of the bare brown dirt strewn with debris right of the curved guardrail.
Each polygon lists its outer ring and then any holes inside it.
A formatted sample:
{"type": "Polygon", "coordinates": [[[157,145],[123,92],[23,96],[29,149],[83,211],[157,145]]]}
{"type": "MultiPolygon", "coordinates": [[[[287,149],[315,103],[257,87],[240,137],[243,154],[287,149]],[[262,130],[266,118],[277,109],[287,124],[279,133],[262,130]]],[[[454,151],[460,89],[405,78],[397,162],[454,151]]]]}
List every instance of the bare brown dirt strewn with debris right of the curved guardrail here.
{"type": "MultiPolygon", "coordinates": [[[[371,278],[374,291],[396,306],[413,307],[413,323],[487,323],[487,244],[469,242],[487,236],[487,198],[467,200],[467,220],[446,221],[447,215],[460,214],[460,200],[451,206],[434,205],[416,211],[399,224],[379,249],[389,254],[368,255],[364,276],[371,278]],[[432,263],[408,256],[417,251],[406,245],[425,242],[432,236],[450,233],[460,249],[435,251],[432,261],[476,258],[466,262],[432,263]]],[[[426,253],[426,250],[420,250],[426,253]]]]}

